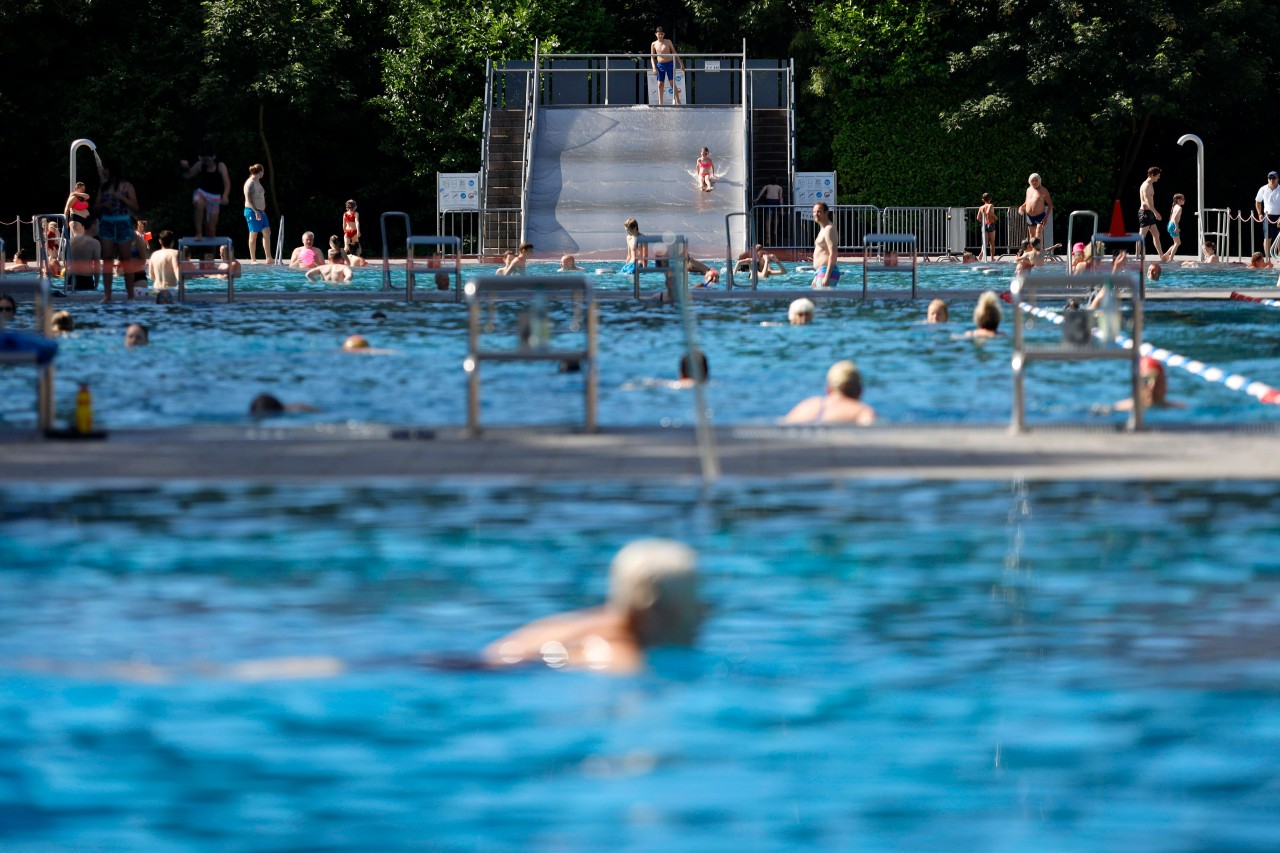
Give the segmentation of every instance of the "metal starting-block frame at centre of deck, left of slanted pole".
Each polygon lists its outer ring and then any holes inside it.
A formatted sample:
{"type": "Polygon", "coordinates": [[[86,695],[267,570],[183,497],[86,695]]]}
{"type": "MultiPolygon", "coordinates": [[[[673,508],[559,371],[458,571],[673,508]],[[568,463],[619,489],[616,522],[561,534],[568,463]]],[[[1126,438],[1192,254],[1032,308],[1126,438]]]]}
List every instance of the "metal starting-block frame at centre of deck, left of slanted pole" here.
{"type": "MultiPolygon", "coordinates": [[[[480,428],[480,365],[485,361],[577,361],[586,362],[584,403],[586,407],[586,432],[596,430],[598,366],[596,338],[599,334],[599,311],[591,282],[585,275],[484,275],[468,279],[463,287],[467,298],[467,357],[462,369],[467,374],[467,434],[477,437],[480,428]],[[580,306],[585,314],[584,346],[577,348],[552,348],[544,343],[521,342],[515,350],[495,350],[481,346],[481,307],[486,297],[490,310],[498,296],[508,298],[534,298],[545,302],[548,297],[575,300],[575,315],[580,306]]],[[[532,321],[535,318],[530,315],[532,321]]]]}

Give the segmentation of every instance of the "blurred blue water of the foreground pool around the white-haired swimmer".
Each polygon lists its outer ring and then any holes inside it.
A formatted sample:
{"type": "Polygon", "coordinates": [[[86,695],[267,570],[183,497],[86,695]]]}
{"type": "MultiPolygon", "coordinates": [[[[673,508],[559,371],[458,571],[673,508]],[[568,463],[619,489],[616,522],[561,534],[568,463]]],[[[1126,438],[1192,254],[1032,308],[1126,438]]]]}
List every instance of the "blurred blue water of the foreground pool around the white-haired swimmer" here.
{"type": "Polygon", "coordinates": [[[0,845],[1274,849],[1277,498],[0,493],[0,845]],[[695,649],[630,678],[457,666],[600,601],[640,534],[700,555],[695,649]],[[316,654],[348,669],[228,669],[316,654]]]}

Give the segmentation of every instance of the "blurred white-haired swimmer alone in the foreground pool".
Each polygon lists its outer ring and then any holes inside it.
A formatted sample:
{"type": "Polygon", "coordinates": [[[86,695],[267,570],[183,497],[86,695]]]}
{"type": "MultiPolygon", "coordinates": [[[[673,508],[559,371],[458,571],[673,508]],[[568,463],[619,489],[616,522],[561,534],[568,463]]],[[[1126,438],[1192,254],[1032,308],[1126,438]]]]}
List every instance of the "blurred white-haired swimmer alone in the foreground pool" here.
{"type": "Polygon", "coordinates": [[[484,660],[493,666],[635,672],[646,649],[696,639],[704,613],[696,567],[689,546],[632,542],[613,557],[604,606],[532,621],[489,644],[484,660]]]}

